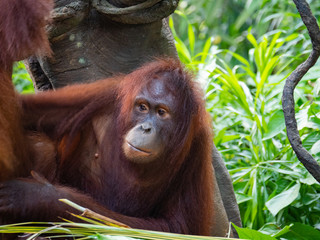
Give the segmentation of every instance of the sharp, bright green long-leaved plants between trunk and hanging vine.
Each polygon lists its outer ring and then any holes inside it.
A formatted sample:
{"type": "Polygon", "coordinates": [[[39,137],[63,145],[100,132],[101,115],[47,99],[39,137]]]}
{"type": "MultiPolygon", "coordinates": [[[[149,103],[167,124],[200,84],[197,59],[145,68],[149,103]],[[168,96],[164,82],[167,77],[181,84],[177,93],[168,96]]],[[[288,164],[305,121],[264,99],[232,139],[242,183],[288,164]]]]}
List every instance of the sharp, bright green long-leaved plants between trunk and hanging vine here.
{"type": "MultiPolygon", "coordinates": [[[[254,229],[268,222],[281,226],[293,219],[311,225],[319,223],[306,216],[319,214],[319,205],[305,204],[303,194],[318,194],[319,185],[307,180],[311,176],[297,161],[285,134],[280,103],[290,59],[280,59],[281,48],[287,42],[287,37],[280,36],[281,32],[277,32],[269,36],[270,40],[264,37],[257,42],[249,33],[254,47],[249,54],[251,60],[232,53],[240,63],[231,68],[215,58],[217,64],[210,72],[208,86],[208,109],[217,132],[215,143],[227,160],[244,225],[254,229]]],[[[300,96],[296,100],[304,103],[305,111],[305,105],[310,103],[303,94],[300,96]]],[[[301,123],[300,120],[299,126],[301,123]]],[[[314,129],[311,131],[308,126],[304,124],[303,131],[307,136],[314,135],[314,129]]]]}

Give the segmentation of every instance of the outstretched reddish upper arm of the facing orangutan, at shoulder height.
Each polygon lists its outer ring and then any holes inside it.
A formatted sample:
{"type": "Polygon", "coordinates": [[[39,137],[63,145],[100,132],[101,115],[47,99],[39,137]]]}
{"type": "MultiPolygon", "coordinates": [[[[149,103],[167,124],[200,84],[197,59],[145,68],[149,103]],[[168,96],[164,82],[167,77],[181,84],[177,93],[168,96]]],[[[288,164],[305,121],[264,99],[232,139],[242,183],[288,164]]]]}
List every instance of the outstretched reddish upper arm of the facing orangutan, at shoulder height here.
{"type": "Polygon", "coordinates": [[[25,129],[53,136],[59,127],[71,128],[81,119],[82,113],[91,117],[102,108],[112,111],[118,81],[113,78],[37,95],[20,95],[25,129]]]}

